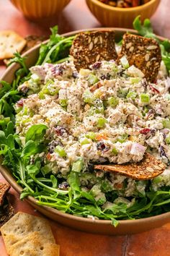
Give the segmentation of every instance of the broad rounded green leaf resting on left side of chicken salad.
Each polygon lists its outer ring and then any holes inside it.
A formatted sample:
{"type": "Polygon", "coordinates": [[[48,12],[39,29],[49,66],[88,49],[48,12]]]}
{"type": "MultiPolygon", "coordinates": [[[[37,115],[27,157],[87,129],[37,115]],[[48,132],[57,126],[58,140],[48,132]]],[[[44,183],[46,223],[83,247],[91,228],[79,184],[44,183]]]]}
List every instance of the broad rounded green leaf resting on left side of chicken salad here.
{"type": "Polygon", "coordinates": [[[34,124],[27,130],[25,135],[25,141],[33,140],[34,142],[40,143],[45,135],[48,127],[45,124],[34,124]]]}

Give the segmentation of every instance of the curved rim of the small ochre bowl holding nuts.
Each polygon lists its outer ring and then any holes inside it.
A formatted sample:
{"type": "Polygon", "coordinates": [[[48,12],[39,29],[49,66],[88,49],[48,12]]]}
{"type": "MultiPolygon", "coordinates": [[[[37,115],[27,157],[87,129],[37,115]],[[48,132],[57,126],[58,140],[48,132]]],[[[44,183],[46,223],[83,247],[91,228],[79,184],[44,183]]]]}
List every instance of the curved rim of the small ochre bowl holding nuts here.
{"type": "Polygon", "coordinates": [[[146,4],[139,5],[138,7],[128,7],[128,8],[121,8],[121,7],[112,7],[109,4],[104,4],[99,0],[86,0],[91,1],[93,4],[96,4],[98,7],[102,7],[104,9],[107,9],[109,11],[117,11],[117,12],[135,12],[135,11],[140,11],[143,8],[149,8],[151,7],[154,3],[159,2],[160,0],[150,0],[146,4]]]}

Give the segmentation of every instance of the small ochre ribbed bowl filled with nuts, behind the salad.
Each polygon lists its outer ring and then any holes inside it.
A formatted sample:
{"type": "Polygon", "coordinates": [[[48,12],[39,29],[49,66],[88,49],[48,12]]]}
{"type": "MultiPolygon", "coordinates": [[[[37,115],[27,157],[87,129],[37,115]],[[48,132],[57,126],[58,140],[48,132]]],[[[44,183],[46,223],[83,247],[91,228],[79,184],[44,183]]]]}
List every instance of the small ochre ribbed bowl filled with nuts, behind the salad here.
{"type": "Polygon", "coordinates": [[[90,11],[107,27],[133,27],[133,20],[140,15],[141,20],[150,18],[161,0],[150,0],[139,7],[119,8],[103,4],[99,0],[86,0],[90,11]]]}

